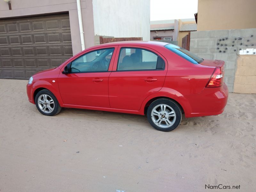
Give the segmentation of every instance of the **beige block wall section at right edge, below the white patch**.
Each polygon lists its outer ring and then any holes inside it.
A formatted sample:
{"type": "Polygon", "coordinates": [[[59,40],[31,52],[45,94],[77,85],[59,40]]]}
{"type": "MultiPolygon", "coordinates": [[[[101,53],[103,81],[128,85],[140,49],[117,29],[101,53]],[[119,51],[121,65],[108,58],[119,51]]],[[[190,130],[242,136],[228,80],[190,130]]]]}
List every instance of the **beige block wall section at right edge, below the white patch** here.
{"type": "Polygon", "coordinates": [[[236,93],[256,93],[256,55],[239,55],[234,82],[236,93]]]}

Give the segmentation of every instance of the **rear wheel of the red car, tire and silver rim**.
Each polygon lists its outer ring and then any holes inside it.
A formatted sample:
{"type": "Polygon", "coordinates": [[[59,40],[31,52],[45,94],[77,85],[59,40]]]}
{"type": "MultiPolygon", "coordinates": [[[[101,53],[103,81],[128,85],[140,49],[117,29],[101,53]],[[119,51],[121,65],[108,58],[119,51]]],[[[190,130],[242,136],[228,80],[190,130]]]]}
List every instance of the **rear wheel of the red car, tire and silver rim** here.
{"type": "Polygon", "coordinates": [[[179,126],[182,114],[180,107],[175,102],[168,99],[157,99],[149,105],[147,117],[148,122],[156,130],[168,132],[179,126]]]}

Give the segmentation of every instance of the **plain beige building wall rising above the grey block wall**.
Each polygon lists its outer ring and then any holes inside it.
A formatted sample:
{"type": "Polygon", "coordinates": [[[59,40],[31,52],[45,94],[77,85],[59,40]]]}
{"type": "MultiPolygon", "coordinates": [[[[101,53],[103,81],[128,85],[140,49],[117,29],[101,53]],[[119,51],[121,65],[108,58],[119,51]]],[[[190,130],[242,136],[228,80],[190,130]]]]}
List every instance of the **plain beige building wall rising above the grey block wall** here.
{"type": "Polygon", "coordinates": [[[198,0],[197,31],[256,28],[256,0],[198,0]]]}

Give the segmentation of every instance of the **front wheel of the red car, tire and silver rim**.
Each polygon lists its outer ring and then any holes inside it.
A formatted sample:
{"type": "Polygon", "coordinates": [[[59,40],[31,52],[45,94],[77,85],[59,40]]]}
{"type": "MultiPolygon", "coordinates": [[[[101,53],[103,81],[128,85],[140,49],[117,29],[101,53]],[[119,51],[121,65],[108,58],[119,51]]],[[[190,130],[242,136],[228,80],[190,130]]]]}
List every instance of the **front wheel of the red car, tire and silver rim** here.
{"type": "Polygon", "coordinates": [[[36,94],[35,103],[36,108],[43,115],[54,116],[60,113],[60,104],[54,94],[48,89],[43,89],[36,94]]]}

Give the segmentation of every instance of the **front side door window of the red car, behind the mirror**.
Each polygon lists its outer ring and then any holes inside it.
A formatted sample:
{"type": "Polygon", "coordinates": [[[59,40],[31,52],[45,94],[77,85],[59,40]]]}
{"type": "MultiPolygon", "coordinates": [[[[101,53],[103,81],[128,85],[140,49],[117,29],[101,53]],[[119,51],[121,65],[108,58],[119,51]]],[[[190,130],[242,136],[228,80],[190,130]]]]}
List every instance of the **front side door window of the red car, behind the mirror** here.
{"type": "Polygon", "coordinates": [[[114,52],[114,48],[100,49],[82,55],[72,61],[70,73],[104,72],[108,71],[108,66],[114,52]]]}

